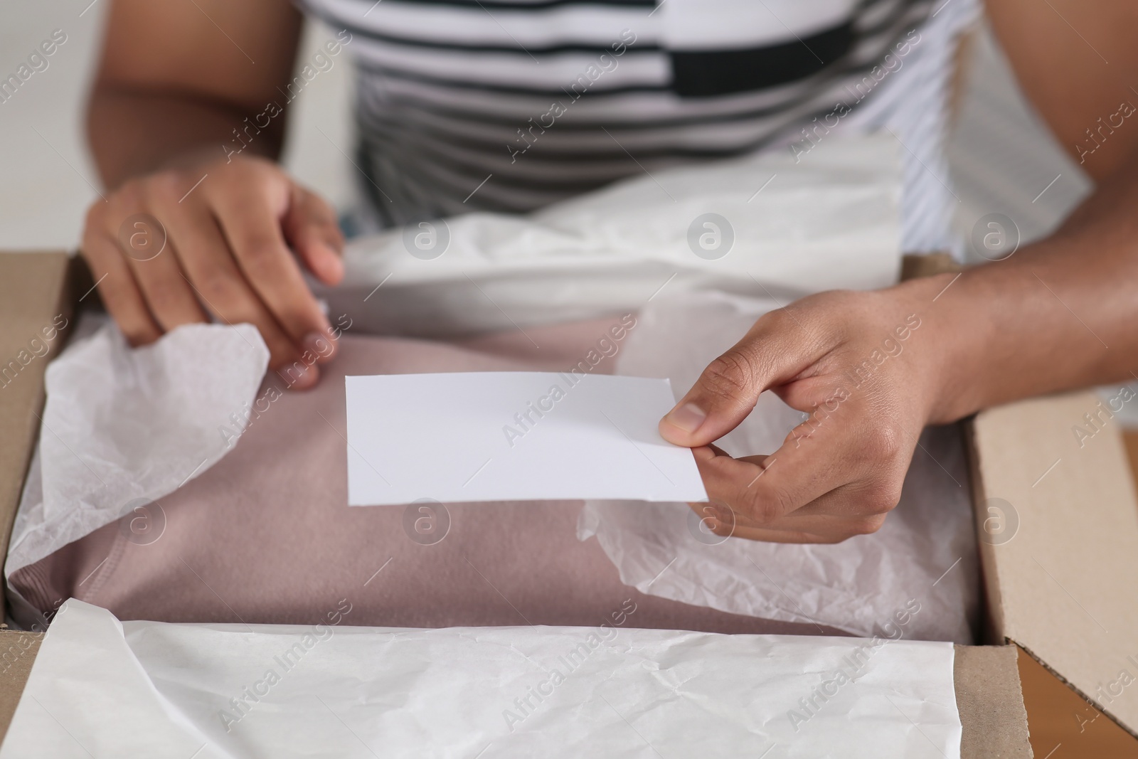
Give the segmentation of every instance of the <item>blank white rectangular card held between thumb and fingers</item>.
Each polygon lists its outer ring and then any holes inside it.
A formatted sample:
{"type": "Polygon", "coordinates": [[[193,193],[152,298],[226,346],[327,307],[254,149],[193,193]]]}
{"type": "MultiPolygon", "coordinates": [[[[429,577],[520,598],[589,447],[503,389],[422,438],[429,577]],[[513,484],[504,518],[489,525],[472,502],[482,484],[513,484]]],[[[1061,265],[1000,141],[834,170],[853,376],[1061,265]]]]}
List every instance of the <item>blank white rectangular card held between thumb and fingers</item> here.
{"type": "Polygon", "coordinates": [[[348,505],[707,501],[657,431],[666,379],[554,372],[345,378],[348,505]]]}

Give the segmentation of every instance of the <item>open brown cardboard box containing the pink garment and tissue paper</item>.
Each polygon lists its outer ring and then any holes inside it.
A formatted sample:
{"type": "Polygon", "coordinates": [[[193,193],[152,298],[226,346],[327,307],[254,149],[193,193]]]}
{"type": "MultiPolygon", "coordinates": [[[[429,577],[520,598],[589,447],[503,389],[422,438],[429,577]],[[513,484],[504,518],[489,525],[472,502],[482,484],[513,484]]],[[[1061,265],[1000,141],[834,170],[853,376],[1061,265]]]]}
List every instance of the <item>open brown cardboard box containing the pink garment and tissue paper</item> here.
{"type": "MultiPolygon", "coordinates": [[[[43,328],[73,323],[97,302],[92,286],[65,253],[0,253],[0,558],[40,428],[43,372],[66,339],[46,341],[43,328]]],[[[1138,677],[1138,501],[1119,426],[1097,403],[1089,393],[1032,399],[968,423],[991,645],[956,647],[964,757],[1032,756],[1016,645],[1138,734],[1138,685],[1129,686],[1138,677]],[[1083,414],[1096,413],[1089,438],[1072,432],[1089,431],[1083,414]]],[[[34,633],[0,632],[0,735],[38,647],[34,633]]]]}

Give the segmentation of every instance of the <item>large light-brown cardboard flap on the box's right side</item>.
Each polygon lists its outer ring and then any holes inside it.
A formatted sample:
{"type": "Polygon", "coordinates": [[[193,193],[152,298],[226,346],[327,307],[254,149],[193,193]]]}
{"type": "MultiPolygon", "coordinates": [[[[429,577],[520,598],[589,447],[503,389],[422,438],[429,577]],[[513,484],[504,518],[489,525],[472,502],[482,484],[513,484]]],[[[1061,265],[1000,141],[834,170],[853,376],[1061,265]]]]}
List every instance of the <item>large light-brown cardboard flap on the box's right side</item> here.
{"type": "Polygon", "coordinates": [[[1138,500],[1108,404],[1023,401],[972,431],[996,634],[1138,734],[1138,500]]]}

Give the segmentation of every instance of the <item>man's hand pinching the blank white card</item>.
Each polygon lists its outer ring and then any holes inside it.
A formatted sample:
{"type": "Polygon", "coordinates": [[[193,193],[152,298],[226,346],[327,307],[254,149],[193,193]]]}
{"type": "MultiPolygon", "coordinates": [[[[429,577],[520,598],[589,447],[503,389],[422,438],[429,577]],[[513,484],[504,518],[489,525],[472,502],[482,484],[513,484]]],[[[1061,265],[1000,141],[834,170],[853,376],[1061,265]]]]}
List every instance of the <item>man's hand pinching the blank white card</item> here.
{"type": "Polygon", "coordinates": [[[937,404],[938,352],[922,312],[940,279],[803,298],[762,316],[703,371],[660,434],[694,448],[712,505],[692,508],[709,527],[783,543],[881,527],[937,404]],[[809,413],[782,447],[732,459],[711,445],[767,389],[809,413]]]}

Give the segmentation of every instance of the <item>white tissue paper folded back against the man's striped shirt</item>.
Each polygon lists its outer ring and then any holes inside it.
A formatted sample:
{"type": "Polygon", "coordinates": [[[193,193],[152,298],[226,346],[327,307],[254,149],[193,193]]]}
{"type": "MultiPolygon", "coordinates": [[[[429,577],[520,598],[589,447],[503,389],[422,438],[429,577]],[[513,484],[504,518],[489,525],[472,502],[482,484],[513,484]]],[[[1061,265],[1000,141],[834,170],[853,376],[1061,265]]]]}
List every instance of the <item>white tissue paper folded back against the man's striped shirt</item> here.
{"type": "Polygon", "coordinates": [[[885,287],[900,262],[900,150],[889,133],[833,138],[809,162],[780,150],[634,176],[525,216],[407,225],[354,240],[344,283],[314,287],[361,331],[420,337],[637,311],[661,290],[793,300],[885,287]]]}

